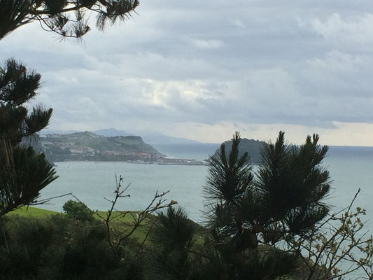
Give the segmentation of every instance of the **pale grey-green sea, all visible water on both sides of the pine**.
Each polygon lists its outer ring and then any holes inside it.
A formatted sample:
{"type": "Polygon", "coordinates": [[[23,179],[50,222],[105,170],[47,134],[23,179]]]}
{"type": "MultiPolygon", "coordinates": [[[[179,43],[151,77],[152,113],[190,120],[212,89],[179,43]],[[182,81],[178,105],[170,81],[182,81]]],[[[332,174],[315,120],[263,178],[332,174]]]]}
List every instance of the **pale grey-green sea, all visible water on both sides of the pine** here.
{"type": "MultiPolygon", "coordinates": [[[[206,160],[218,144],[158,145],[158,151],[170,158],[206,160]]],[[[189,165],[133,164],[128,162],[55,162],[59,178],[41,191],[40,199],[73,194],[92,210],[105,211],[111,207],[119,176],[124,178],[125,195],[115,205],[118,210],[141,210],[156,193],[166,202],[174,200],[183,207],[189,218],[203,223],[204,192],[208,167],[189,165]],[[108,201],[109,200],[109,201],[108,201]]],[[[361,207],[365,231],[373,234],[373,147],[330,146],[323,166],[330,172],[332,191],[325,203],[337,212],[348,207],[360,189],[353,208],[361,207]]],[[[255,169],[255,167],[254,167],[255,169]]],[[[38,207],[62,211],[71,195],[50,200],[38,207]]],[[[357,277],[358,274],[353,274],[357,277]]],[[[355,278],[352,278],[355,279],[355,278]]]]}

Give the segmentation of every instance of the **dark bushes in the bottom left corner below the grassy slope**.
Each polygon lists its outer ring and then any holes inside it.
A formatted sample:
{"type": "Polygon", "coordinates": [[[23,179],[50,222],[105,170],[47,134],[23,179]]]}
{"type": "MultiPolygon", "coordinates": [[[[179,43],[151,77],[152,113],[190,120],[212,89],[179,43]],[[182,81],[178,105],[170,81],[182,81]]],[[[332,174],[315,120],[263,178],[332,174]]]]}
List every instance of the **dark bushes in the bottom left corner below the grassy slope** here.
{"type": "Polygon", "coordinates": [[[124,259],[98,221],[89,227],[62,215],[3,221],[0,279],[140,279],[140,265],[124,259]]]}

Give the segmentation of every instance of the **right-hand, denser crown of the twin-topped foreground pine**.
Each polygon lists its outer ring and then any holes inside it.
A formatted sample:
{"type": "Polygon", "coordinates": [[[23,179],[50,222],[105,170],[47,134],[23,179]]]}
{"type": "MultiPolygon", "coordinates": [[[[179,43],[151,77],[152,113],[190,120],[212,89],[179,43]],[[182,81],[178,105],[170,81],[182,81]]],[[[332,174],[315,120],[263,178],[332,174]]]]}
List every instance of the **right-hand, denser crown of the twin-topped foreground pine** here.
{"type": "Polygon", "coordinates": [[[283,132],[263,150],[256,188],[267,209],[265,227],[300,235],[328,214],[322,200],[330,191],[330,175],[321,165],[327,152],[317,135],[297,147],[285,144],[283,132]]]}

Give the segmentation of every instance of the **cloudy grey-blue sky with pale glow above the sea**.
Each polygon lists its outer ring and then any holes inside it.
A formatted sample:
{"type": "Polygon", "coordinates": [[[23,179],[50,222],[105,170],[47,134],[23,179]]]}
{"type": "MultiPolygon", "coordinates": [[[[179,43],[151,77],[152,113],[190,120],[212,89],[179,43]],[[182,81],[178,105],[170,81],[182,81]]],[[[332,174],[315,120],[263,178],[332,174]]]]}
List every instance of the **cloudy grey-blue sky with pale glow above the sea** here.
{"type": "Polygon", "coordinates": [[[34,22],[0,58],[42,75],[52,130],[151,130],[373,146],[373,1],[142,0],[125,23],[60,41],[34,22]]]}

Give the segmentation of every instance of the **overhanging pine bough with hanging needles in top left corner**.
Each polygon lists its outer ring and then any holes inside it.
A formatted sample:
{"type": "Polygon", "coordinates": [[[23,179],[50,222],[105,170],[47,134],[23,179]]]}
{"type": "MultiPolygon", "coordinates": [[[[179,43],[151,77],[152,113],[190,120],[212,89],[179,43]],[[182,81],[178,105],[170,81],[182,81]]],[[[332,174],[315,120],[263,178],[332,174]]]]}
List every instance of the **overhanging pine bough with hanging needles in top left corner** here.
{"type": "Polygon", "coordinates": [[[0,40],[18,27],[38,21],[45,31],[80,38],[90,31],[87,16],[97,15],[96,25],[104,30],[131,16],[138,0],[0,0],[0,40]]]}

